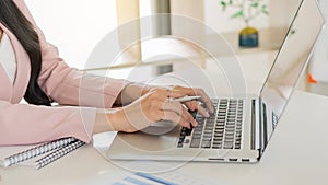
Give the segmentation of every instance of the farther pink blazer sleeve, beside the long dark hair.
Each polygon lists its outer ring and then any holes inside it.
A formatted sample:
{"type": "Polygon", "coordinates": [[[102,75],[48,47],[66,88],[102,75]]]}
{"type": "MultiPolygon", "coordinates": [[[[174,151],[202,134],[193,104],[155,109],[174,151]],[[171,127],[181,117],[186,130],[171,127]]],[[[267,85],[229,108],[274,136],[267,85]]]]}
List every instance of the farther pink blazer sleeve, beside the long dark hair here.
{"type": "Polygon", "coordinates": [[[96,77],[69,68],[59,57],[57,48],[47,43],[24,1],[16,1],[38,32],[43,51],[39,84],[49,97],[55,102],[67,105],[112,107],[117,95],[128,82],[126,80],[96,77]]]}

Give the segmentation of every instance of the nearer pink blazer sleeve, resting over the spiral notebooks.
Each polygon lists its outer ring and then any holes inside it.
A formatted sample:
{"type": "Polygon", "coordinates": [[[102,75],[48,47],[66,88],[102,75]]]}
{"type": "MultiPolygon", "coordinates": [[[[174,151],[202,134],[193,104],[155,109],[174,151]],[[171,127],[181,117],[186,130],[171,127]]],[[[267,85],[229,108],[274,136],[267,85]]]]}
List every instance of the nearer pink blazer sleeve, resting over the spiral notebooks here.
{"type": "Polygon", "coordinates": [[[0,101],[0,146],[39,143],[63,137],[74,137],[89,142],[96,109],[0,101]]]}

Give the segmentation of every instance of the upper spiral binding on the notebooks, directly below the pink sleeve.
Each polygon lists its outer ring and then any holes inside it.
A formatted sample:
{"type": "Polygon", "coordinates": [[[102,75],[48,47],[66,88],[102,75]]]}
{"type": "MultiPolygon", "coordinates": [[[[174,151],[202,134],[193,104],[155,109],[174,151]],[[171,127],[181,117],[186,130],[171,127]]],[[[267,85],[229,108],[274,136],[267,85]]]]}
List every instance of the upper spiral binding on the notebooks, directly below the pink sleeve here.
{"type": "Polygon", "coordinates": [[[44,154],[44,153],[49,152],[51,150],[61,148],[61,147],[67,146],[71,142],[74,142],[74,141],[77,141],[75,138],[69,137],[69,138],[58,139],[58,140],[55,140],[55,141],[51,141],[49,143],[45,143],[45,144],[42,144],[42,146],[38,146],[38,147],[34,147],[32,149],[28,149],[28,150],[25,150],[25,151],[22,151],[20,153],[16,153],[16,154],[13,154],[11,157],[5,158],[3,164],[7,167],[7,166],[13,165],[15,163],[28,160],[31,158],[37,157],[39,154],[44,154]]]}

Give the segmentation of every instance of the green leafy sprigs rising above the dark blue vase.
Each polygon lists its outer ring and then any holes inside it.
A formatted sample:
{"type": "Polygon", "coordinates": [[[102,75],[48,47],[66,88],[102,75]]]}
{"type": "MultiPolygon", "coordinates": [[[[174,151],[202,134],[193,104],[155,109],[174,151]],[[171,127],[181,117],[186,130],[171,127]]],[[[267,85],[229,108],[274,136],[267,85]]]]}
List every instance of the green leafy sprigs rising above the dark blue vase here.
{"type": "Polygon", "coordinates": [[[232,19],[241,18],[246,26],[249,22],[260,14],[269,14],[266,0],[221,0],[223,11],[227,8],[235,9],[236,12],[231,15],[232,19]]]}

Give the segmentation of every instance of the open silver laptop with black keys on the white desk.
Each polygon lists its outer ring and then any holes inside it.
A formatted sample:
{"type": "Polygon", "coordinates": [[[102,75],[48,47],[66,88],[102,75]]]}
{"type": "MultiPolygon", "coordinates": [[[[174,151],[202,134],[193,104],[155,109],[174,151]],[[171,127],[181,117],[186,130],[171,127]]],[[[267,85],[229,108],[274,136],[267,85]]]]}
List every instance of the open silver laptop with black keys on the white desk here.
{"type": "Polygon", "coordinates": [[[110,160],[258,162],[324,22],[317,1],[302,0],[257,96],[213,99],[215,114],[209,118],[191,113],[198,122],[194,129],[163,120],[134,134],[118,132],[104,154],[110,160]]]}

